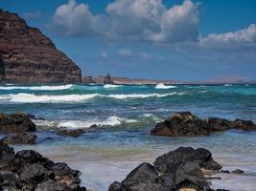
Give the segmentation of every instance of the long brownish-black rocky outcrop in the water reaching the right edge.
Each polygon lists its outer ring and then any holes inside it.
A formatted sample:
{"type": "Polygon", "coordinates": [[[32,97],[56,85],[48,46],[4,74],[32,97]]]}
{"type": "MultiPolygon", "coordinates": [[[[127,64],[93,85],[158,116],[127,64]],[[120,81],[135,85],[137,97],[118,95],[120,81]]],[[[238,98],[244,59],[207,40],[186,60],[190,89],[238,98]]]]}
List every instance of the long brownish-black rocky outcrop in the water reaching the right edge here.
{"type": "Polygon", "coordinates": [[[256,124],[251,120],[243,119],[236,119],[234,121],[217,117],[200,119],[190,112],[179,112],[167,120],[157,123],[151,130],[151,135],[170,137],[200,136],[230,129],[255,131],[256,124]]]}

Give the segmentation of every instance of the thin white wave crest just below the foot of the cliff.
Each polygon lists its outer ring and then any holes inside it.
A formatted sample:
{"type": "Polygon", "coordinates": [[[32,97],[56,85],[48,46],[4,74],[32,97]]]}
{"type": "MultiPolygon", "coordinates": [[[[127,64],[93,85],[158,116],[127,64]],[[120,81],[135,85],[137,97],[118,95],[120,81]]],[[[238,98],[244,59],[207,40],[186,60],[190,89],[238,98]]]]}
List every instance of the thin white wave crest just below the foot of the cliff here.
{"type": "Polygon", "coordinates": [[[60,86],[0,86],[0,90],[35,90],[35,91],[55,91],[70,89],[72,84],[60,86]]]}

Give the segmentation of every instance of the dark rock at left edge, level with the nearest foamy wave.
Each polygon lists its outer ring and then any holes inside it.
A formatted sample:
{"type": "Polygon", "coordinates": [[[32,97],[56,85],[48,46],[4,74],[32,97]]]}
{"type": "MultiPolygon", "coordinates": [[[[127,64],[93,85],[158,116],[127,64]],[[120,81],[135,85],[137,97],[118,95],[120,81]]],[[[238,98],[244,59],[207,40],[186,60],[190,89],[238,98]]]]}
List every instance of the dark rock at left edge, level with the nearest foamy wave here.
{"type": "Polygon", "coordinates": [[[34,131],[36,131],[35,123],[27,115],[0,114],[0,132],[17,133],[34,131]]]}

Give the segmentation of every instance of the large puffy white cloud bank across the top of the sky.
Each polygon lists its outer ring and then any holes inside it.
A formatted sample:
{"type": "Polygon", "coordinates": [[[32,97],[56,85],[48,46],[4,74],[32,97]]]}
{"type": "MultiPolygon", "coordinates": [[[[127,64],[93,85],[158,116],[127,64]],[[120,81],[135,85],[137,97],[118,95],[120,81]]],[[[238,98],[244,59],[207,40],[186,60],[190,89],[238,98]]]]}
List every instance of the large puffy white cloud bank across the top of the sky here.
{"type": "Polygon", "coordinates": [[[101,35],[152,42],[198,39],[198,4],[185,0],[166,8],[161,0],[115,0],[105,14],[93,14],[70,0],[58,7],[53,22],[69,35],[101,35]]]}

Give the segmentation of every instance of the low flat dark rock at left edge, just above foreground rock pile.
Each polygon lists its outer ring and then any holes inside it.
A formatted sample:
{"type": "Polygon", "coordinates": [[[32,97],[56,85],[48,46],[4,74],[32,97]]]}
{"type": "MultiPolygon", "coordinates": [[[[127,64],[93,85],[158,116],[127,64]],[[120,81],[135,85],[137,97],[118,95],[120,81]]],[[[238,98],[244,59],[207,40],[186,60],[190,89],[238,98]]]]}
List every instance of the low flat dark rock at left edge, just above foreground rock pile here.
{"type": "Polygon", "coordinates": [[[6,136],[2,141],[6,144],[35,144],[36,138],[35,135],[18,133],[15,136],[6,136]]]}

